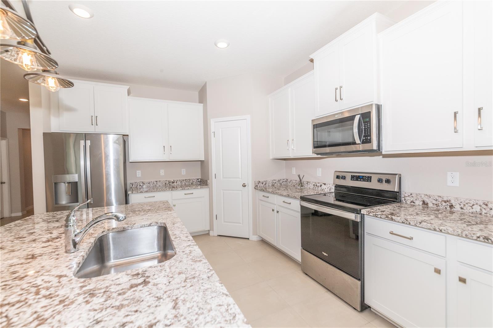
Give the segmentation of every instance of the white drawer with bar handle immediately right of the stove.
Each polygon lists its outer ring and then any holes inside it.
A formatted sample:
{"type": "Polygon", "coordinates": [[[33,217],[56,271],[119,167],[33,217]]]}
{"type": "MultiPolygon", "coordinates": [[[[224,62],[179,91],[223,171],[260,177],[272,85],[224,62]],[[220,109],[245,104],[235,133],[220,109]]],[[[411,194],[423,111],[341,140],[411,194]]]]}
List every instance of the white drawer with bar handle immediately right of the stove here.
{"type": "Polygon", "coordinates": [[[445,257],[445,235],[365,216],[365,232],[445,257]]]}

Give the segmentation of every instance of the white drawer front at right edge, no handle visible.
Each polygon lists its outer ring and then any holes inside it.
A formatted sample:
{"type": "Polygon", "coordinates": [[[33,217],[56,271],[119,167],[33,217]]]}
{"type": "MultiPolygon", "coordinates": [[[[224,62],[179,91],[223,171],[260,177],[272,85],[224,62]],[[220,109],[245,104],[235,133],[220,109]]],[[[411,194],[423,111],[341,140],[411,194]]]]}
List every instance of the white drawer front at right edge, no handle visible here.
{"type": "Polygon", "coordinates": [[[457,261],[493,272],[493,247],[458,239],[457,261]]]}

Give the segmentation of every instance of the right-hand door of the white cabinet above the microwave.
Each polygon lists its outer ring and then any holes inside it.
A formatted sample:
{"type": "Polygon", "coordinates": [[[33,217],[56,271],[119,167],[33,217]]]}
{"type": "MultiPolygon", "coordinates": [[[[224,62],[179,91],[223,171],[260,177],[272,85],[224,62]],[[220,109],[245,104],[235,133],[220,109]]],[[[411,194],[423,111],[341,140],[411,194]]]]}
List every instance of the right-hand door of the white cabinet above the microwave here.
{"type": "Polygon", "coordinates": [[[374,24],[369,24],[339,43],[341,110],[374,100],[374,28],[374,24]]]}

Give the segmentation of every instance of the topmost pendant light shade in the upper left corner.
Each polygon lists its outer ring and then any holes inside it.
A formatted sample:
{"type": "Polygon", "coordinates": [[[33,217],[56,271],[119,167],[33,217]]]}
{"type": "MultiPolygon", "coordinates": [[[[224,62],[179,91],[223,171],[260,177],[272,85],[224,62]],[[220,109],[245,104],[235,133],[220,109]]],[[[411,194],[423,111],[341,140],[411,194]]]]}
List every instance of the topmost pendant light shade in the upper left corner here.
{"type": "Polygon", "coordinates": [[[36,35],[33,23],[3,5],[0,7],[0,39],[32,40],[36,35]]]}

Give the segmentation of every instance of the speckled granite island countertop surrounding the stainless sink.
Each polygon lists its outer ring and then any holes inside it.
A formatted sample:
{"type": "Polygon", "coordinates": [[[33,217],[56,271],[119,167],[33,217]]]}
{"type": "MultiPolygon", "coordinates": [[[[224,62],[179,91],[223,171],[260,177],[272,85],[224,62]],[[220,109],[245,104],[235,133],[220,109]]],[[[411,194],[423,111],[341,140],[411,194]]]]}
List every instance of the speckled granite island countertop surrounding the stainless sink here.
{"type": "Polygon", "coordinates": [[[0,326],[249,327],[169,202],[77,211],[79,227],[109,211],[127,218],[97,224],[71,254],[64,251],[68,211],[36,214],[0,228],[0,326]],[[172,259],[101,277],[74,277],[100,235],[156,225],[169,230],[176,248],[172,259]]]}

